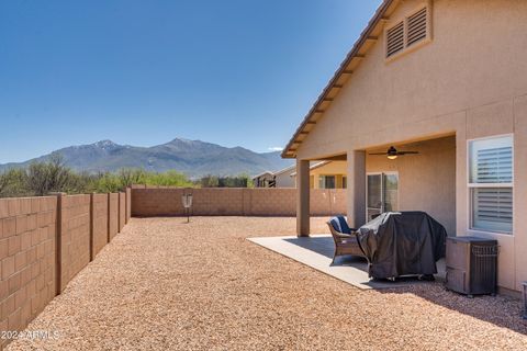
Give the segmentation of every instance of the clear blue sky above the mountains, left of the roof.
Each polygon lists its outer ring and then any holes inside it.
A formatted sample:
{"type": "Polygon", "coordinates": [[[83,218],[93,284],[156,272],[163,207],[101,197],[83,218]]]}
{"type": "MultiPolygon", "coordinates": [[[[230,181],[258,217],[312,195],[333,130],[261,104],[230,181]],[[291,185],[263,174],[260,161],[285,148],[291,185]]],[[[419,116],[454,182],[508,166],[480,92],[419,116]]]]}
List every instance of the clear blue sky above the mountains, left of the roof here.
{"type": "Polygon", "coordinates": [[[381,1],[0,2],[0,163],[111,139],[283,147],[381,1]]]}

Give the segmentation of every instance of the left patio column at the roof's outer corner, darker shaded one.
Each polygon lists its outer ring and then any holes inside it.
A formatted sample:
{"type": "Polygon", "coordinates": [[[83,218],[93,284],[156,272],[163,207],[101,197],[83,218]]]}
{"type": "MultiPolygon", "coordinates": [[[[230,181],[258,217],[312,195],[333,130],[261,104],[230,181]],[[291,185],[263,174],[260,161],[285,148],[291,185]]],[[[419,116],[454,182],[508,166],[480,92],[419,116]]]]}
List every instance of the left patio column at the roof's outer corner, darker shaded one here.
{"type": "Polygon", "coordinates": [[[310,161],[296,159],[296,235],[310,236],[310,161]]]}

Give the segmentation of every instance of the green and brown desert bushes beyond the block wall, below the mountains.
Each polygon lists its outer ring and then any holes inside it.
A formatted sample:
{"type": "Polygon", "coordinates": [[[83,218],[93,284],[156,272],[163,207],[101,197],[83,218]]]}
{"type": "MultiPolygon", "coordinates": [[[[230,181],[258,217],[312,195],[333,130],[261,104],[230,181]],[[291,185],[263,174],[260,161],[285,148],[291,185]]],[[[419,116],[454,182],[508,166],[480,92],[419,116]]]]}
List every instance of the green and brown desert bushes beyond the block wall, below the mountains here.
{"type": "Polygon", "coordinates": [[[117,192],[132,184],[181,188],[253,186],[247,174],[206,176],[191,180],[176,170],[152,172],[144,169],[121,169],[117,172],[76,172],[65,165],[60,155],[53,154],[46,161],[0,172],[0,197],[44,196],[54,192],[69,194],[117,192]]]}

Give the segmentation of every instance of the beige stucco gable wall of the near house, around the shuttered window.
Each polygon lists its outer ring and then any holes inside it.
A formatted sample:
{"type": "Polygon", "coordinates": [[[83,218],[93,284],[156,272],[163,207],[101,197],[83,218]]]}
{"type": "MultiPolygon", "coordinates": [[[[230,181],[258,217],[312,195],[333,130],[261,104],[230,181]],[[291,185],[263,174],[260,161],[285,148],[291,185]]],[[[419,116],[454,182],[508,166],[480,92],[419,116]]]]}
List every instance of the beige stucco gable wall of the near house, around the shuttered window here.
{"type": "MultiPolygon", "coordinates": [[[[422,3],[402,1],[386,24],[422,3]]],[[[486,235],[501,245],[498,284],[515,290],[527,280],[526,19],[523,0],[433,1],[431,43],[386,64],[381,34],[298,150],[299,159],[323,159],[456,134],[456,228],[466,235],[467,139],[514,133],[514,235],[486,235]]]]}

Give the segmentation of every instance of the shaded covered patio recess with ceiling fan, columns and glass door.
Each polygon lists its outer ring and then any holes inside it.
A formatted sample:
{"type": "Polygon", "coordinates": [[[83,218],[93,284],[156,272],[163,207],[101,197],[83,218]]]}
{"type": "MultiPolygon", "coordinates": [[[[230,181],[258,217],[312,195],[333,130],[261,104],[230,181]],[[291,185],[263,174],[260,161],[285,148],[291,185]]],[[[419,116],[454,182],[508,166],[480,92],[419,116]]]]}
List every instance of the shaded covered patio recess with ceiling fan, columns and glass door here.
{"type": "Polygon", "coordinates": [[[313,160],[347,162],[347,220],[358,228],[375,215],[390,211],[424,211],[456,235],[456,135],[442,134],[332,156],[296,159],[296,234],[309,237],[310,172],[313,160]],[[388,155],[390,148],[401,154],[388,155]]]}

